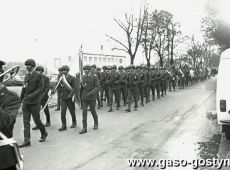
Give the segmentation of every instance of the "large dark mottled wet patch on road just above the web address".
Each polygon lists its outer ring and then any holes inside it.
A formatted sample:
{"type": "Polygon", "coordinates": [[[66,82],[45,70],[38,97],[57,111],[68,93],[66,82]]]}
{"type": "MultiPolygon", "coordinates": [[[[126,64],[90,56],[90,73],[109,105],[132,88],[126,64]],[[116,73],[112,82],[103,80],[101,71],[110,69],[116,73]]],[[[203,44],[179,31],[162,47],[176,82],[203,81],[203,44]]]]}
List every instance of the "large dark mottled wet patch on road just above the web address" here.
{"type": "Polygon", "coordinates": [[[219,145],[221,134],[214,134],[208,142],[197,142],[196,146],[198,151],[198,158],[212,159],[218,158],[219,145]]]}

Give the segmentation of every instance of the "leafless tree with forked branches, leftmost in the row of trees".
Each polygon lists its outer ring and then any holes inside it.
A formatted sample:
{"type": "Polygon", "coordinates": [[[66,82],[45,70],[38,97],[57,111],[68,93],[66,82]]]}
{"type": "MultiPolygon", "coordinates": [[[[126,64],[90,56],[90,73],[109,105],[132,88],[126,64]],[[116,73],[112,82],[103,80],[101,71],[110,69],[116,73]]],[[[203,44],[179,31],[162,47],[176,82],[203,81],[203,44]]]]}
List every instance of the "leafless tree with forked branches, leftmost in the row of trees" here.
{"type": "Polygon", "coordinates": [[[144,22],[145,22],[145,15],[147,12],[147,7],[144,6],[143,12],[140,8],[138,18],[135,18],[133,15],[125,14],[125,22],[121,20],[114,19],[114,21],[118,24],[118,26],[125,32],[127,42],[121,42],[118,39],[106,35],[116,43],[118,43],[121,47],[120,48],[113,48],[114,50],[121,50],[129,54],[130,56],[130,64],[133,64],[138,47],[141,43],[141,36],[144,30],[144,22]]]}

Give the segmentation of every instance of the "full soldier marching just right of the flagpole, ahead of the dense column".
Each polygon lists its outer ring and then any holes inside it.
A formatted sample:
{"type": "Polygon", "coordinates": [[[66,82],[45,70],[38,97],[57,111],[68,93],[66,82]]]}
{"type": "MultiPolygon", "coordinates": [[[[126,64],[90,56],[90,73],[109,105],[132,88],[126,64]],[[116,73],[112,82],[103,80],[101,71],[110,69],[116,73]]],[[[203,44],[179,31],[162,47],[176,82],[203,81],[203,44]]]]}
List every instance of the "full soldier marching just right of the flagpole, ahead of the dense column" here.
{"type": "Polygon", "coordinates": [[[94,119],[93,129],[98,129],[98,116],[96,113],[96,97],[100,88],[100,83],[95,74],[90,73],[90,66],[85,65],[83,67],[85,75],[82,76],[82,124],[83,128],[79,134],[87,132],[87,108],[90,107],[91,114],[94,119]]]}

